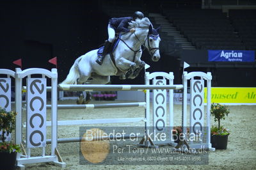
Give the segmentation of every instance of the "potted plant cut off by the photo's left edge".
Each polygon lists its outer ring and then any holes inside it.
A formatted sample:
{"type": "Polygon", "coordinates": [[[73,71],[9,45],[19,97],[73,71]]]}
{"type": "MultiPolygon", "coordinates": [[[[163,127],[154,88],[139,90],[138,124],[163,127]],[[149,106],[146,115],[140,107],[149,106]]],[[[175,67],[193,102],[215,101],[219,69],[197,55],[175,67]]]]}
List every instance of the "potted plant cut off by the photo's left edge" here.
{"type": "Polygon", "coordinates": [[[7,112],[0,107],[0,130],[1,143],[0,143],[0,169],[15,169],[16,155],[20,152],[20,146],[10,142],[6,142],[4,134],[12,133],[15,129],[16,112],[7,112]]]}

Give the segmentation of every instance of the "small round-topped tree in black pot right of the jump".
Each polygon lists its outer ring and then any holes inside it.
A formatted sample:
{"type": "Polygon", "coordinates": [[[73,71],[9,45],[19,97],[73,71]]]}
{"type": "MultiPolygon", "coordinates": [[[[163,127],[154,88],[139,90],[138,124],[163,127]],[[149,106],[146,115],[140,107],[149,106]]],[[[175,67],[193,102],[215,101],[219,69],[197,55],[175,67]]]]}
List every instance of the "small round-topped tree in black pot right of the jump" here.
{"type": "Polygon", "coordinates": [[[228,116],[230,110],[227,105],[211,104],[211,115],[214,116],[214,121],[218,121],[218,127],[212,126],[211,128],[211,144],[212,148],[216,150],[226,150],[228,143],[228,132],[227,128],[220,125],[220,120],[225,120],[225,116],[228,116]]]}

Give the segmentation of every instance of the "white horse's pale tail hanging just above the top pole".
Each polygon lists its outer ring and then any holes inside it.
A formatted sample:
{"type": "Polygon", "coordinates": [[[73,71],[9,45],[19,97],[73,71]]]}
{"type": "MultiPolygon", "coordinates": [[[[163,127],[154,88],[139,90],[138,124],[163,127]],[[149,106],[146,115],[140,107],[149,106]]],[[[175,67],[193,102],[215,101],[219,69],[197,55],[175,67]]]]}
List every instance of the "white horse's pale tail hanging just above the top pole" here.
{"type": "Polygon", "coordinates": [[[74,65],[72,65],[72,67],[69,70],[67,78],[60,84],[77,84],[77,79],[80,77],[78,71],[78,63],[81,60],[81,58],[82,56],[76,59],[74,65]]]}

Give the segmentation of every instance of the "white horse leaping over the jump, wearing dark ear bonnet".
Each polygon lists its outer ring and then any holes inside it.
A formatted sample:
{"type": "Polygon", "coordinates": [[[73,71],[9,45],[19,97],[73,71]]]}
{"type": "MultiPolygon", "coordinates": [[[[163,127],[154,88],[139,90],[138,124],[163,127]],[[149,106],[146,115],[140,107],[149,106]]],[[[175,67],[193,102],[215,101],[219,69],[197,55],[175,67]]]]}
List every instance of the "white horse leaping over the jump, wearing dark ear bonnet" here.
{"type": "MultiPolygon", "coordinates": [[[[134,79],[145,66],[141,61],[141,45],[150,52],[152,61],[160,59],[158,30],[152,27],[150,20],[145,17],[129,22],[129,29],[135,27],[134,33],[125,33],[111,55],[107,54],[102,65],[98,65],[97,50],[91,50],[80,56],[70,68],[67,78],[61,84],[107,84],[111,75],[119,75],[121,79],[134,79]],[[90,79],[89,79],[90,78],[90,79]]],[[[86,93],[86,100],[90,94],[86,93]]]]}

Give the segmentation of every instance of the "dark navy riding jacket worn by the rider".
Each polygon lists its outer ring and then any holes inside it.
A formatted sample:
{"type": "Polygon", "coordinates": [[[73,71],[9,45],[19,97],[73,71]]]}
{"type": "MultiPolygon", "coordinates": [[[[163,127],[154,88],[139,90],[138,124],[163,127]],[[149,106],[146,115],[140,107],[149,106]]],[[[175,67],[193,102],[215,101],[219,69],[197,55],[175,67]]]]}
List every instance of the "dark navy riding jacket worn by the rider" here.
{"type": "Polygon", "coordinates": [[[112,18],[109,20],[109,25],[115,29],[116,32],[129,32],[128,29],[129,22],[131,22],[132,17],[122,17],[122,18],[112,18]]]}

